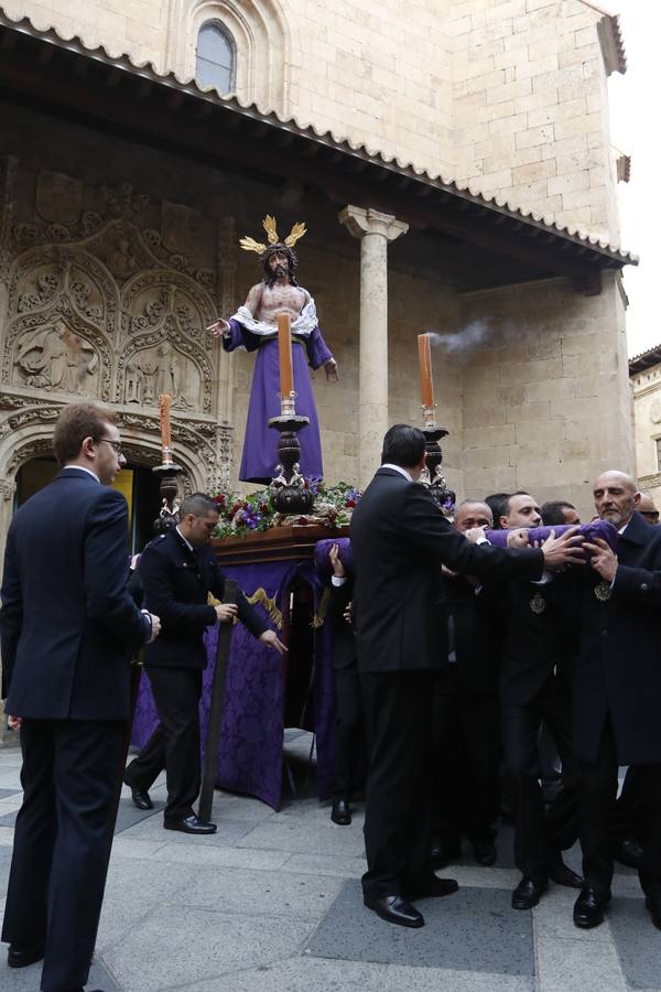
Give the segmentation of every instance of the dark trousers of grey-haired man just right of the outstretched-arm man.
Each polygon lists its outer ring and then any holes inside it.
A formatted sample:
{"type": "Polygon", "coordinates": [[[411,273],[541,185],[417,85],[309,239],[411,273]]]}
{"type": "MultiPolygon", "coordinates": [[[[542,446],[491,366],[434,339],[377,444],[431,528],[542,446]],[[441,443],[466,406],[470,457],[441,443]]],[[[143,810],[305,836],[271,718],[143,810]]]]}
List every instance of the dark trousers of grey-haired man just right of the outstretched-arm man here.
{"type": "Polygon", "coordinates": [[[464,834],[490,840],[500,809],[500,707],[494,696],[464,692],[456,665],[454,692],[434,700],[434,835],[452,843],[464,834]]]}

